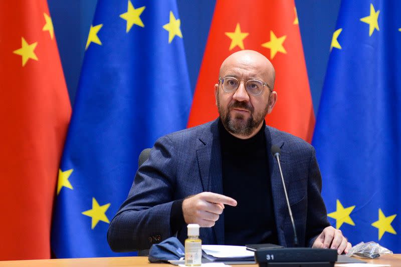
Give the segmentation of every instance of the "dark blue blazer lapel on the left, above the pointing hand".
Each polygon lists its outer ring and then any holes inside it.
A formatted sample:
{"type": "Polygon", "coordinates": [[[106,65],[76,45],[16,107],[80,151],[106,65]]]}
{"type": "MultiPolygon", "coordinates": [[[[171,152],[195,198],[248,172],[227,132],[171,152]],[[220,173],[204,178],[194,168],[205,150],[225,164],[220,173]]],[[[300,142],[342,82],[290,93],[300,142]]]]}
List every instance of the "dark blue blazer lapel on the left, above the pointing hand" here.
{"type": "MultiPolygon", "coordinates": [[[[210,128],[206,128],[204,135],[199,137],[196,156],[203,190],[223,194],[222,155],[218,120],[215,120],[210,128]]],[[[217,243],[224,244],[224,212],[216,221],[213,230],[217,243]]]]}

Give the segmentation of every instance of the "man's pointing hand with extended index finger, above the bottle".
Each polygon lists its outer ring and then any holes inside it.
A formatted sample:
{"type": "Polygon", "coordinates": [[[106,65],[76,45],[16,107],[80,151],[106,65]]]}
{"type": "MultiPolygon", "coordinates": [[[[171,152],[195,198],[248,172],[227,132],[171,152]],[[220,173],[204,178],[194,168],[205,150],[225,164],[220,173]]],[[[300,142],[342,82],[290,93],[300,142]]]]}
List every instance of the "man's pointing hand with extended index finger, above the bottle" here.
{"type": "Polygon", "coordinates": [[[200,227],[212,227],[223,213],[225,204],[237,206],[237,201],[212,192],[193,195],[182,202],[184,220],[186,223],[197,223],[200,227]]]}

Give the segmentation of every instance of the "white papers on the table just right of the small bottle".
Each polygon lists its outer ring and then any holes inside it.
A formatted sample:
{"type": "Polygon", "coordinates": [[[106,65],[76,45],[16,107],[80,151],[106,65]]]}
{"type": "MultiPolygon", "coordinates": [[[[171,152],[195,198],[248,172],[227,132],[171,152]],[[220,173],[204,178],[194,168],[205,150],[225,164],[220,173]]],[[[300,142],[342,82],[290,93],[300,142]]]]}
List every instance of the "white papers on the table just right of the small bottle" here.
{"type": "Polygon", "coordinates": [[[241,245],[202,245],[202,250],[208,255],[217,258],[244,258],[253,257],[254,251],[247,250],[241,245]]]}

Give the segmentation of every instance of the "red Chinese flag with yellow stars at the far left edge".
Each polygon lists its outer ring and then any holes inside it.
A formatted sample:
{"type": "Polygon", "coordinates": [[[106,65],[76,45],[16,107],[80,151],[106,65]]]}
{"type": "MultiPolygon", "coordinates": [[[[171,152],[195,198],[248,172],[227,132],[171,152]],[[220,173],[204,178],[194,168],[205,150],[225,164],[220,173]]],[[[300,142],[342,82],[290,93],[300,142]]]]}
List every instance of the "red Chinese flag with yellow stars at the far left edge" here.
{"type": "Polygon", "coordinates": [[[46,0],[0,1],[0,260],[50,257],[71,114],[46,0]]]}

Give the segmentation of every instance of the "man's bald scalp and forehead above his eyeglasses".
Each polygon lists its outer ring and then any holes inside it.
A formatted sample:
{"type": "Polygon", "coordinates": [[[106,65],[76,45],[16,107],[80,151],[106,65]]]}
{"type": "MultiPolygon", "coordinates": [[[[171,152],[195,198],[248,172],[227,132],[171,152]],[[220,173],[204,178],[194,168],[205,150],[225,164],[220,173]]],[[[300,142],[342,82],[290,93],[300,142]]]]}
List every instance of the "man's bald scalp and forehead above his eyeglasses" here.
{"type": "Polygon", "coordinates": [[[261,53],[253,50],[241,50],[231,54],[220,67],[219,76],[230,75],[233,69],[246,69],[253,75],[260,77],[273,90],[276,71],[272,63],[261,53]]]}

